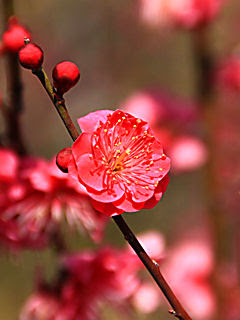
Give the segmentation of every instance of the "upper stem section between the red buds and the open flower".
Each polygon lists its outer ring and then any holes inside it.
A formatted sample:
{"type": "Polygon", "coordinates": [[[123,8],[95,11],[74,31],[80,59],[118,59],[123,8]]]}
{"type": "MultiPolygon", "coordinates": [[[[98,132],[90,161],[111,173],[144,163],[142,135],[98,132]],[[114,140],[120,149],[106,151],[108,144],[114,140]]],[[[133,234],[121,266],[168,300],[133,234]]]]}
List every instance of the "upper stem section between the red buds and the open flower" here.
{"type": "Polygon", "coordinates": [[[64,99],[57,98],[55,89],[51,84],[51,81],[49,80],[46,72],[42,68],[38,70],[34,70],[33,74],[35,74],[38,77],[38,79],[41,81],[44,89],[46,90],[58,114],[60,115],[63,123],[65,124],[65,127],[67,128],[70,136],[72,137],[73,140],[76,140],[77,137],[79,136],[79,133],[76,127],[74,126],[72,119],[69,116],[64,99]]]}

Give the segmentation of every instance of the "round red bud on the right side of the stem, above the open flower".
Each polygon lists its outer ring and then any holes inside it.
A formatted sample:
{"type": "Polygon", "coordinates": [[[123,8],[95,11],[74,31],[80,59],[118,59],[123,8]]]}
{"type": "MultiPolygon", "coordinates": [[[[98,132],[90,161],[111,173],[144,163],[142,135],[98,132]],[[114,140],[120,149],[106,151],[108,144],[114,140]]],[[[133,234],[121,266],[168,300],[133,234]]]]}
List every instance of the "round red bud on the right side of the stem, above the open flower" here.
{"type": "Polygon", "coordinates": [[[53,69],[52,77],[58,93],[63,95],[78,82],[80,72],[73,62],[62,61],[53,69]]]}

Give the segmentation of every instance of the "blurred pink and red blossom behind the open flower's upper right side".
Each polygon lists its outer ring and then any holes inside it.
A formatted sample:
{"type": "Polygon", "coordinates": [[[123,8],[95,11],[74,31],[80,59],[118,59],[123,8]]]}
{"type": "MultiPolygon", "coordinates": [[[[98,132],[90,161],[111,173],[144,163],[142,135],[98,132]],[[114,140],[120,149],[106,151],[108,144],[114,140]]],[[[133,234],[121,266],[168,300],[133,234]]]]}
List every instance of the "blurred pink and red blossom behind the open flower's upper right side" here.
{"type": "Polygon", "coordinates": [[[127,112],[149,121],[172,159],[173,172],[194,170],[205,164],[207,149],[195,133],[200,117],[193,103],[150,89],[130,96],[125,106],[127,112]]]}

